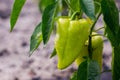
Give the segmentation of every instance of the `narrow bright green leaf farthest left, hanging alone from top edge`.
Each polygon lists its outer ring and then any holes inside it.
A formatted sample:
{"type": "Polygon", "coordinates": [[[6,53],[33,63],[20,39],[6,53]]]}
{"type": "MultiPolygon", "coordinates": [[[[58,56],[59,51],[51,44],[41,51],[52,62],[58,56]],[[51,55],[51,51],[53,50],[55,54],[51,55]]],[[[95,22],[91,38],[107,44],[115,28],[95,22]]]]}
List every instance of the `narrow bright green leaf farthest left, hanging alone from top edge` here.
{"type": "Polygon", "coordinates": [[[25,4],[25,2],[26,2],[26,0],[15,0],[14,1],[14,5],[13,5],[12,12],[11,12],[11,17],[10,17],[10,25],[11,25],[10,31],[13,30],[13,28],[17,22],[17,19],[19,17],[19,14],[21,12],[21,9],[22,9],[23,5],[25,4]]]}

